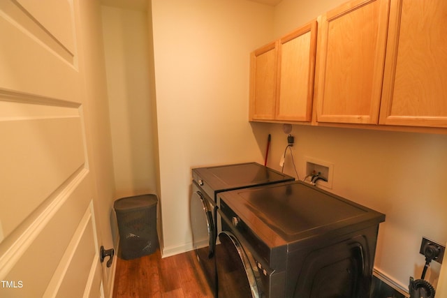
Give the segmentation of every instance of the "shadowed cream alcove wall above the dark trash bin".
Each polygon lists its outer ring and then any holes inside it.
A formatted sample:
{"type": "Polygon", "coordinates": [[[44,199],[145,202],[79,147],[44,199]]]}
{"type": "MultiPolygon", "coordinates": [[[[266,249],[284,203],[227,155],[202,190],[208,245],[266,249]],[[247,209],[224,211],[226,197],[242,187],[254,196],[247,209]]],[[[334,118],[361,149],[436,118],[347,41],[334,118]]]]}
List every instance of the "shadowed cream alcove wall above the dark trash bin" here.
{"type": "Polygon", "coordinates": [[[102,6],[117,198],[156,193],[147,13],[102,6]]]}

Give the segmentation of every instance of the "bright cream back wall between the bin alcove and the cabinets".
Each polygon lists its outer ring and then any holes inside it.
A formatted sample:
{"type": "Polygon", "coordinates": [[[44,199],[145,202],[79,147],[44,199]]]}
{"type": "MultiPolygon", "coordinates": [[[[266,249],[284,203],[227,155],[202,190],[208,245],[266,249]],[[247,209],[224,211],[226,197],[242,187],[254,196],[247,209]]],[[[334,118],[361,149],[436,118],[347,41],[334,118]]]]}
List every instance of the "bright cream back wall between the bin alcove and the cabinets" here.
{"type": "Polygon", "coordinates": [[[272,20],[251,1],[152,0],[163,255],[191,249],[191,168],[263,161],[247,121],[249,52],[272,20]]]}

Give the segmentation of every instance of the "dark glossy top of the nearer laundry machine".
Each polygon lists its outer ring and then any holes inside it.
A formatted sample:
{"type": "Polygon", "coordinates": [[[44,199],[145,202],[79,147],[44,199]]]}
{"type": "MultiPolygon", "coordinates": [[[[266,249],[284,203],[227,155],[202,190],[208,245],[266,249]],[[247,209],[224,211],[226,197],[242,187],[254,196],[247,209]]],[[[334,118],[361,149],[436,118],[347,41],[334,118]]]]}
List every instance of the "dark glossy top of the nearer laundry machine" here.
{"type": "Polygon", "coordinates": [[[220,193],[219,198],[270,248],[385,221],[384,214],[302,181],[220,193]]]}

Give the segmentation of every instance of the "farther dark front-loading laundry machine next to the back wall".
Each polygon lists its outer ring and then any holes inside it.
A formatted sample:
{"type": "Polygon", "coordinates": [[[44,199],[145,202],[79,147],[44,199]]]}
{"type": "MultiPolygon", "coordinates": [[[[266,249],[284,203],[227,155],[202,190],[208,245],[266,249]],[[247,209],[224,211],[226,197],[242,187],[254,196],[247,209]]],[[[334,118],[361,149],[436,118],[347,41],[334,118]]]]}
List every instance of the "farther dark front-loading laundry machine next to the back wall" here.
{"type": "Polygon", "coordinates": [[[192,170],[190,200],[193,248],[214,294],[217,292],[217,274],[214,251],[221,223],[217,221],[217,195],[255,186],[266,186],[295,178],[259,163],[237,163],[192,170]]]}

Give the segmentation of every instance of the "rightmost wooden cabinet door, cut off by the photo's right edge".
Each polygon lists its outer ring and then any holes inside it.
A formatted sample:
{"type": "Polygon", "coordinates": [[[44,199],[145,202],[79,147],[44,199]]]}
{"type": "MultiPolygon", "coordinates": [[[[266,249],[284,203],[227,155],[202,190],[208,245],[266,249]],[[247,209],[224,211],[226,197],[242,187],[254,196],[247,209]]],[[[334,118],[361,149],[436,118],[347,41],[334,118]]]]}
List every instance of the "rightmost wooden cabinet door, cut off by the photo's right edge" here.
{"type": "Polygon", "coordinates": [[[380,124],[447,127],[447,1],[390,9],[380,124]]]}

